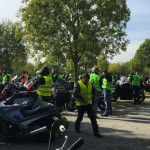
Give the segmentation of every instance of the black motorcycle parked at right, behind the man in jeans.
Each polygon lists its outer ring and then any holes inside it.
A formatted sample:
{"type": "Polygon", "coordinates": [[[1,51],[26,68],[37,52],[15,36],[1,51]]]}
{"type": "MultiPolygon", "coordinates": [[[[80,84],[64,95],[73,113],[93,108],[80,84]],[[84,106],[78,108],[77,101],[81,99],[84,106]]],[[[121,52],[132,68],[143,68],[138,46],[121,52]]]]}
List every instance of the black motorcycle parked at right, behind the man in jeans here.
{"type": "Polygon", "coordinates": [[[124,83],[115,85],[111,98],[112,102],[116,102],[120,98],[120,100],[134,100],[134,104],[139,104],[145,100],[145,95],[142,88],[135,90],[130,83],[124,83]]]}

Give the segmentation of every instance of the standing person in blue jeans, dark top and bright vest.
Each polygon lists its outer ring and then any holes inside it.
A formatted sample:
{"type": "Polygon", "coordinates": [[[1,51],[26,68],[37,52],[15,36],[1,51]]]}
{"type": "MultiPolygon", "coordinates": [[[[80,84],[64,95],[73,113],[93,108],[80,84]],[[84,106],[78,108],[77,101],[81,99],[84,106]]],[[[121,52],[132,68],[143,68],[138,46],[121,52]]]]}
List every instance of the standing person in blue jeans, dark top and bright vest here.
{"type": "Polygon", "coordinates": [[[104,93],[105,111],[101,116],[112,115],[111,91],[113,88],[112,75],[107,71],[102,74],[102,89],[104,93]]]}

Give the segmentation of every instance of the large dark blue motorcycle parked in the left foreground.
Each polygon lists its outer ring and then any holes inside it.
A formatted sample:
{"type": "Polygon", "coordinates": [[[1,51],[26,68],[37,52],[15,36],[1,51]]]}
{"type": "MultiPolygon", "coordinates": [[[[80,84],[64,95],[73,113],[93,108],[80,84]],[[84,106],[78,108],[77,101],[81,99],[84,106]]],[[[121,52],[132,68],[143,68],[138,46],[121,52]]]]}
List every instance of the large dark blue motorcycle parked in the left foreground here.
{"type": "MultiPolygon", "coordinates": [[[[61,117],[55,105],[42,101],[32,92],[14,94],[0,103],[0,138],[12,142],[31,135],[47,137],[56,120],[67,130],[68,121],[61,117]]],[[[57,137],[60,135],[57,132],[57,137]]]]}

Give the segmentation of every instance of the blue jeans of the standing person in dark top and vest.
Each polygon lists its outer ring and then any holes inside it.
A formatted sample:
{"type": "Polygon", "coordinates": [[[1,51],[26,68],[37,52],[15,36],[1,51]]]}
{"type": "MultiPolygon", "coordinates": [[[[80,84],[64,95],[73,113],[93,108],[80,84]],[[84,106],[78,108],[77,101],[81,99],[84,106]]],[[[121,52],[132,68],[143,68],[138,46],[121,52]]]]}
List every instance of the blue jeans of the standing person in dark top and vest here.
{"type": "Polygon", "coordinates": [[[104,102],[105,102],[105,105],[106,105],[104,113],[105,114],[110,114],[110,113],[112,113],[111,90],[103,89],[103,93],[104,93],[104,102]]]}

